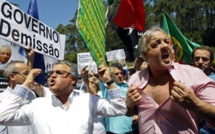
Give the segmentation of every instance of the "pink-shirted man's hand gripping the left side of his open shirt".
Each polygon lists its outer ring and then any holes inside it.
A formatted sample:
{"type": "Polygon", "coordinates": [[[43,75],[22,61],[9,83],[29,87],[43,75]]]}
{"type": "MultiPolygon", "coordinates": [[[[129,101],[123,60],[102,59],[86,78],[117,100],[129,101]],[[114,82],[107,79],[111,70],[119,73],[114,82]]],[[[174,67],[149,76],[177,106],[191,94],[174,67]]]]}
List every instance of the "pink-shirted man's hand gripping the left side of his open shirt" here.
{"type": "Polygon", "coordinates": [[[134,105],[138,105],[142,96],[140,92],[138,91],[137,87],[135,85],[132,85],[129,87],[127,93],[126,93],[126,105],[129,108],[133,108],[134,105]]]}

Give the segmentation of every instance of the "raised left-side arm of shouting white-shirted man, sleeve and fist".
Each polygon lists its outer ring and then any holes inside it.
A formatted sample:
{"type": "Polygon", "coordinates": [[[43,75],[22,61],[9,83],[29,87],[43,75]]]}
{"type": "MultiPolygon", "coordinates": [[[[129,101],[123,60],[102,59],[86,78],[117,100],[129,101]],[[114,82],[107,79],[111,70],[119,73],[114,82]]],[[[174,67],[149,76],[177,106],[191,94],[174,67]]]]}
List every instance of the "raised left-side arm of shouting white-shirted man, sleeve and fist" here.
{"type": "Polygon", "coordinates": [[[27,107],[31,104],[26,104],[25,100],[28,96],[31,83],[34,78],[40,73],[40,69],[32,69],[28,74],[23,85],[16,85],[12,94],[1,100],[0,103],[0,124],[1,125],[30,125],[28,115],[31,114],[31,108],[27,107]],[[25,107],[25,108],[24,108],[25,107]],[[19,122],[19,123],[17,123],[19,122]]]}

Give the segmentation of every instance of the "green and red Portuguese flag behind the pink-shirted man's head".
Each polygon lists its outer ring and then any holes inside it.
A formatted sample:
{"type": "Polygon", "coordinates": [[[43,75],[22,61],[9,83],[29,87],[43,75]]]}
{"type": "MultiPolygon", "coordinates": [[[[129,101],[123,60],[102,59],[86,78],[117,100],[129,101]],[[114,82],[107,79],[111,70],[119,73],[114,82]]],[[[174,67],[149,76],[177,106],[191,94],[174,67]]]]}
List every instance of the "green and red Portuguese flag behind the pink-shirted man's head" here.
{"type": "Polygon", "coordinates": [[[199,47],[200,45],[188,40],[173,23],[172,19],[168,16],[165,10],[163,10],[163,30],[172,40],[176,62],[191,64],[191,53],[193,49],[199,47]]]}

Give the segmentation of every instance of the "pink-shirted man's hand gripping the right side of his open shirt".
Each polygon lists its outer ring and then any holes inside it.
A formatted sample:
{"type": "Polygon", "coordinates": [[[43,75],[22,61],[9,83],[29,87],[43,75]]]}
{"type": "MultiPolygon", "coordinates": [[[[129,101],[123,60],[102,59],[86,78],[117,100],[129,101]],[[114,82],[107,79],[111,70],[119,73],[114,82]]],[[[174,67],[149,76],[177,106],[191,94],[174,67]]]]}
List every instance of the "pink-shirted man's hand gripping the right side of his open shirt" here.
{"type": "Polygon", "coordinates": [[[181,82],[174,82],[170,94],[171,99],[186,109],[193,109],[197,106],[199,98],[181,82]]]}

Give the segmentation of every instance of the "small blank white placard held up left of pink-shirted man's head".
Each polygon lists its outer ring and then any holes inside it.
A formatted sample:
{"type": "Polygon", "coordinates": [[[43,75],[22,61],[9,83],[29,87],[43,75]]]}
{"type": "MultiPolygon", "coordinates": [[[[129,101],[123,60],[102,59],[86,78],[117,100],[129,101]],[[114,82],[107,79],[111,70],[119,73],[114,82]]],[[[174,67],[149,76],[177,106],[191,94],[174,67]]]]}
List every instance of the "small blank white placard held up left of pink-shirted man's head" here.
{"type": "Polygon", "coordinates": [[[106,52],[107,61],[124,60],[126,58],[124,49],[118,49],[106,52]]]}

